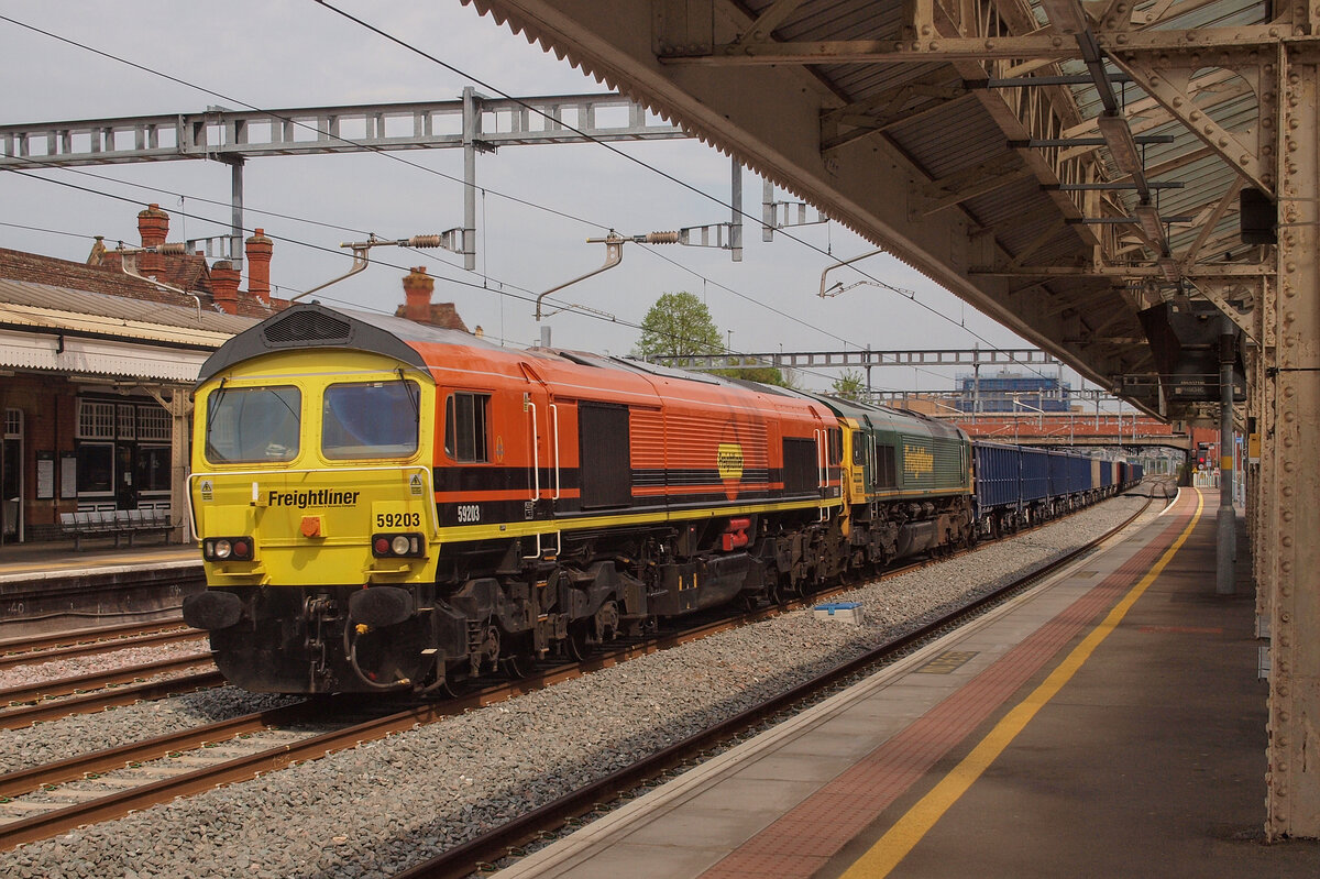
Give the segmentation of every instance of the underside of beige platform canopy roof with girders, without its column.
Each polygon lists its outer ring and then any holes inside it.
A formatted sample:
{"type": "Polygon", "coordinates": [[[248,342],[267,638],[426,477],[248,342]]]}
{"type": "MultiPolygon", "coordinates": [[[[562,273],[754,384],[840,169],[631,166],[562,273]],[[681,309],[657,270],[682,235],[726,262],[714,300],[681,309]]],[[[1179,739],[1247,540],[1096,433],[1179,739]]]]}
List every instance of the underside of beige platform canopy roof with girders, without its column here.
{"type": "MultiPolygon", "coordinates": [[[[1253,0],[465,0],[725,150],[1148,412],[1138,313],[1247,339],[1272,249],[1267,83],[1295,34],[1253,0]],[[1265,84],[1262,84],[1265,83],[1265,84]],[[1266,92],[1262,117],[1261,92],[1266,92]],[[1265,124],[1262,124],[1265,119],[1265,124]]],[[[879,293],[878,293],[879,294],[879,293]]]]}

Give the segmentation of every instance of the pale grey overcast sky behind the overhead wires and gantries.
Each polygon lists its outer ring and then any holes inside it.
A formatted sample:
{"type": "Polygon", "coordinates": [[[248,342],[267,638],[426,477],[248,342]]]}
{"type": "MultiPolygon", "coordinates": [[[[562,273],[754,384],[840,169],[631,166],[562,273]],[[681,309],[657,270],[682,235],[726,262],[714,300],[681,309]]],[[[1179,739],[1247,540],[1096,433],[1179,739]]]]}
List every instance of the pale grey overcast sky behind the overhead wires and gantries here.
{"type": "MultiPolygon", "coordinates": [[[[475,81],[513,96],[607,91],[458,0],[333,1],[459,73],[313,0],[123,0],[111,7],[0,0],[0,16],[7,18],[0,20],[0,58],[11,86],[17,86],[5,88],[0,125],[191,114],[215,104],[277,110],[454,100],[475,81]]],[[[469,327],[480,325],[498,342],[535,344],[541,325],[527,300],[602,265],[605,247],[586,243],[587,238],[610,228],[636,235],[729,219],[722,206],[730,199],[727,156],[696,140],[618,149],[627,157],[599,144],[506,146],[479,154],[475,272],[463,271],[461,256],[440,249],[378,248],[371,267],[315,298],[392,313],[403,301],[403,276],[425,265],[436,277],[434,301],[453,301],[469,327]]],[[[271,267],[276,296],[293,296],[345,273],[350,257],[338,247],[342,242],[362,240],[367,232],[400,239],[462,224],[462,183],[449,179],[462,179],[462,150],[393,156],[412,165],[378,153],[248,161],[246,226],[292,239],[276,243],[271,267]]],[[[220,162],[81,170],[98,177],[58,169],[0,173],[0,247],[86,260],[95,235],[104,235],[111,247],[119,240],[137,244],[136,214],[149,202],[172,214],[170,240],[228,228],[230,169],[220,162]]],[[[762,181],[750,170],[743,181],[743,210],[759,216],[762,181]]],[[[781,191],[776,198],[791,199],[781,191]]],[[[1034,347],[888,255],[857,265],[908,294],[863,282],[822,300],[821,272],[875,244],[837,223],[801,227],[792,236],[776,234],[763,243],[759,226],[744,223],[741,263],[713,248],[668,245],[648,252],[624,245],[620,265],[557,294],[612,319],[561,311],[544,321],[552,343],[627,354],[655,300],[688,290],[706,302],[737,352],[1034,347]]],[[[830,273],[834,281],[865,278],[843,268],[830,273]]],[[[821,370],[797,377],[805,387],[828,388],[836,375],[821,370]]],[[[1081,385],[1071,371],[1064,377],[1074,388],[1081,385]]],[[[873,371],[875,389],[948,389],[953,383],[952,370],[873,371]]]]}

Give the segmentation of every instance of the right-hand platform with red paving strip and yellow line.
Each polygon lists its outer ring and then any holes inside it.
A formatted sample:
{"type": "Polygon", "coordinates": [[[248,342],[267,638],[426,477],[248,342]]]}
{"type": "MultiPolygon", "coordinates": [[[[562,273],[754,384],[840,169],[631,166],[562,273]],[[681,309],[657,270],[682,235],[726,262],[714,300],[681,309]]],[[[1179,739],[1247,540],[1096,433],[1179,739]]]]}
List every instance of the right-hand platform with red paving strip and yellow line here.
{"type": "Polygon", "coordinates": [[[1307,876],[1265,846],[1267,688],[1239,540],[1184,488],[1024,595],[502,879],[1307,876]]]}

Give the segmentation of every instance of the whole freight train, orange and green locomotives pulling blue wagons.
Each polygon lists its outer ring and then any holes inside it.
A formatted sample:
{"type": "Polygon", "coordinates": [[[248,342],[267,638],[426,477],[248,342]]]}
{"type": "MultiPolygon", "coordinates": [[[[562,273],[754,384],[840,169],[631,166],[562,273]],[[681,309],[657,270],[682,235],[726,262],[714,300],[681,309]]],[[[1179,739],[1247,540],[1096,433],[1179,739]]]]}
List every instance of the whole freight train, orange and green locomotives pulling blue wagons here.
{"type": "Polygon", "coordinates": [[[183,618],[226,678],[275,693],[521,674],[1140,479],[879,407],[319,305],[220,347],[195,413],[207,589],[183,618]]]}

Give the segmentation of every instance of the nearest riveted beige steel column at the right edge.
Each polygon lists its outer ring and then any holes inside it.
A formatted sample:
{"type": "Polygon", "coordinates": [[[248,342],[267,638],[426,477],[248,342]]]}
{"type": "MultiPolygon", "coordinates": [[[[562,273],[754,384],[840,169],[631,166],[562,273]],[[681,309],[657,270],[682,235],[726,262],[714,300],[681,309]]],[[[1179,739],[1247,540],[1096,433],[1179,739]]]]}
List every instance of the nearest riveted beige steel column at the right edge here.
{"type": "Polygon", "coordinates": [[[1272,458],[1269,503],[1274,565],[1270,626],[1270,743],[1266,834],[1320,837],[1320,55],[1282,44],[1276,75],[1279,247],[1274,314],[1265,315],[1266,412],[1262,454],[1272,458]],[[1271,319],[1272,318],[1272,319],[1271,319]],[[1269,393],[1269,389],[1267,389],[1269,393]]]}

